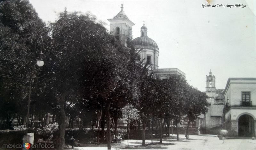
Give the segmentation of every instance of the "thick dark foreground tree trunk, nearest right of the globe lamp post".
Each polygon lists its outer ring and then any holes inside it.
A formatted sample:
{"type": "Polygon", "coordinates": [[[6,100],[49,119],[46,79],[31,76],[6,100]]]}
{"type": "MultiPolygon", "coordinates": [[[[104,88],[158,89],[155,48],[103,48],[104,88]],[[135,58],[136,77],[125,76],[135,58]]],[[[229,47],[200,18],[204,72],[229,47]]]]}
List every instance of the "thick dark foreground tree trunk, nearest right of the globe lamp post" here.
{"type": "Polygon", "coordinates": [[[60,99],[60,139],[59,139],[59,150],[63,150],[65,146],[65,128],[66,128],[66,113],[65,113],[65,94],[61,94],[60,99]]]}

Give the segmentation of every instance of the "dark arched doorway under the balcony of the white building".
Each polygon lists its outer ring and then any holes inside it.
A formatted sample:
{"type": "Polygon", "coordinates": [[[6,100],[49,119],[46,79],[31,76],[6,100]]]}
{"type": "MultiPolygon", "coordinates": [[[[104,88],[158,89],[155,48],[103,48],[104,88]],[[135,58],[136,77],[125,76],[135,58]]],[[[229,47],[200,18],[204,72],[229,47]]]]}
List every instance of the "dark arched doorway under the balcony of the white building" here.
{"type": "Polygon", "coordinates": [[[254,119],[250,115],[242,115],[238,119],[238,136],[254,136],[254,119]]]}

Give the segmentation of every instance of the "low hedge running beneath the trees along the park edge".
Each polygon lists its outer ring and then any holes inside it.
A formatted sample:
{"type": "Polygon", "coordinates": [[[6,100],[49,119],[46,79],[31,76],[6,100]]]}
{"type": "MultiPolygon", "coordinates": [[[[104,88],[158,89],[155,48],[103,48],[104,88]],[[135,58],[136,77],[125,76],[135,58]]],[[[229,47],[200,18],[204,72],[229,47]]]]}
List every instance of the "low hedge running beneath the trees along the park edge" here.
{"type": "MultiPolygon", "coordinates": [[[[0,130],[0,145],[2,144],[22,144],[22,138],[26,133],[26,126],[18,126],[13,127],[14,130],[0,130]]],[[[102,129],[100,128],[100,131],[102,129]]],[[[107,129],[105,130],[105,134],[107,134],[107,129]]],[[[114,129],[110,129],[111,135],[114,134],[114,129]]],[[[34,132],[33,128],[29,128],[28,132],[34,132]]],[[[45,140],[51,140],[55,144],[58,144],[56,140],[58,138],[59,127],[58,123],[48,124],[44,127],[40,127],[37,129],[37,134],[35,134],[35,143],[36,139],[42,138],[45,140]],[[37,136],[37,138],[36,138],[37,136]]],[[[74,137],[74,139],[79,139],[80,143],[88,143],[98,137],[99,128],[76,128],[76,129],[66,129],[65,135],[69,135],[69,137],[74,137]]],[[[34,132],[35,133],[35,132],[34,132]]],[[[122,139],[127,138],[126,129],[117,128],[117,135],[122,139]]],[[[106,137],[106,135],[105,135],[106,137]]]]}

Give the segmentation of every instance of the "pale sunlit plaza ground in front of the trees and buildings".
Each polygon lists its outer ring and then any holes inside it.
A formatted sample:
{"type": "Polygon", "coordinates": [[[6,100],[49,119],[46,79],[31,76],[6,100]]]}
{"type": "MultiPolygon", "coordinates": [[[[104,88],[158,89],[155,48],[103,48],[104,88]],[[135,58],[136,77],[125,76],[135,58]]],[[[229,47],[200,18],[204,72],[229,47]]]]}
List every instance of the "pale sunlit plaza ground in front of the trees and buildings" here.
{"type": "MultiPolygon", "coordinates": [[[[111,149],[256,150],[256,140],[252,139],[227,139],[222,143],[217,136],[189,135],[186,139],[185,135],[181,134],[179,137],[179,141],[176,141],[176,135],[171,135],[170,140],[164,137],[162,144],[157,139],[153,140],[153,144],[150,144],[151,140],[146,140],[146,147],[142,147],[142,140],[129,140],[129,148],[127,140],[124,140],[111,144],[111,149]]],[[[85,144],[75,150],[107,150],[107,144],[85,144]]]]}

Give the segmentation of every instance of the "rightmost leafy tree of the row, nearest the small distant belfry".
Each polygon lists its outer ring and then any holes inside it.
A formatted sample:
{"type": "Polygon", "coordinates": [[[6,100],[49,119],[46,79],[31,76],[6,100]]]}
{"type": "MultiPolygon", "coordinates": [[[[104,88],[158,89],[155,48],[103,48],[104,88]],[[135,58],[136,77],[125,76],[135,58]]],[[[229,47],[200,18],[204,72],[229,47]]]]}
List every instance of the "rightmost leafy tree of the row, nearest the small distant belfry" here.
{"type": "Polygon", "coordinates": [[[208,106],[206,98],[207,96],[204,92],[201,92],[192,86],[188,86],[188,93],[186,95],[184,105],[184,113],[188,118],[186,139],[188,139],[188,128],[190,121],[196,120],[197,116],[205,114],[208,111],[206,108],[206,106],[208,106]]]}

